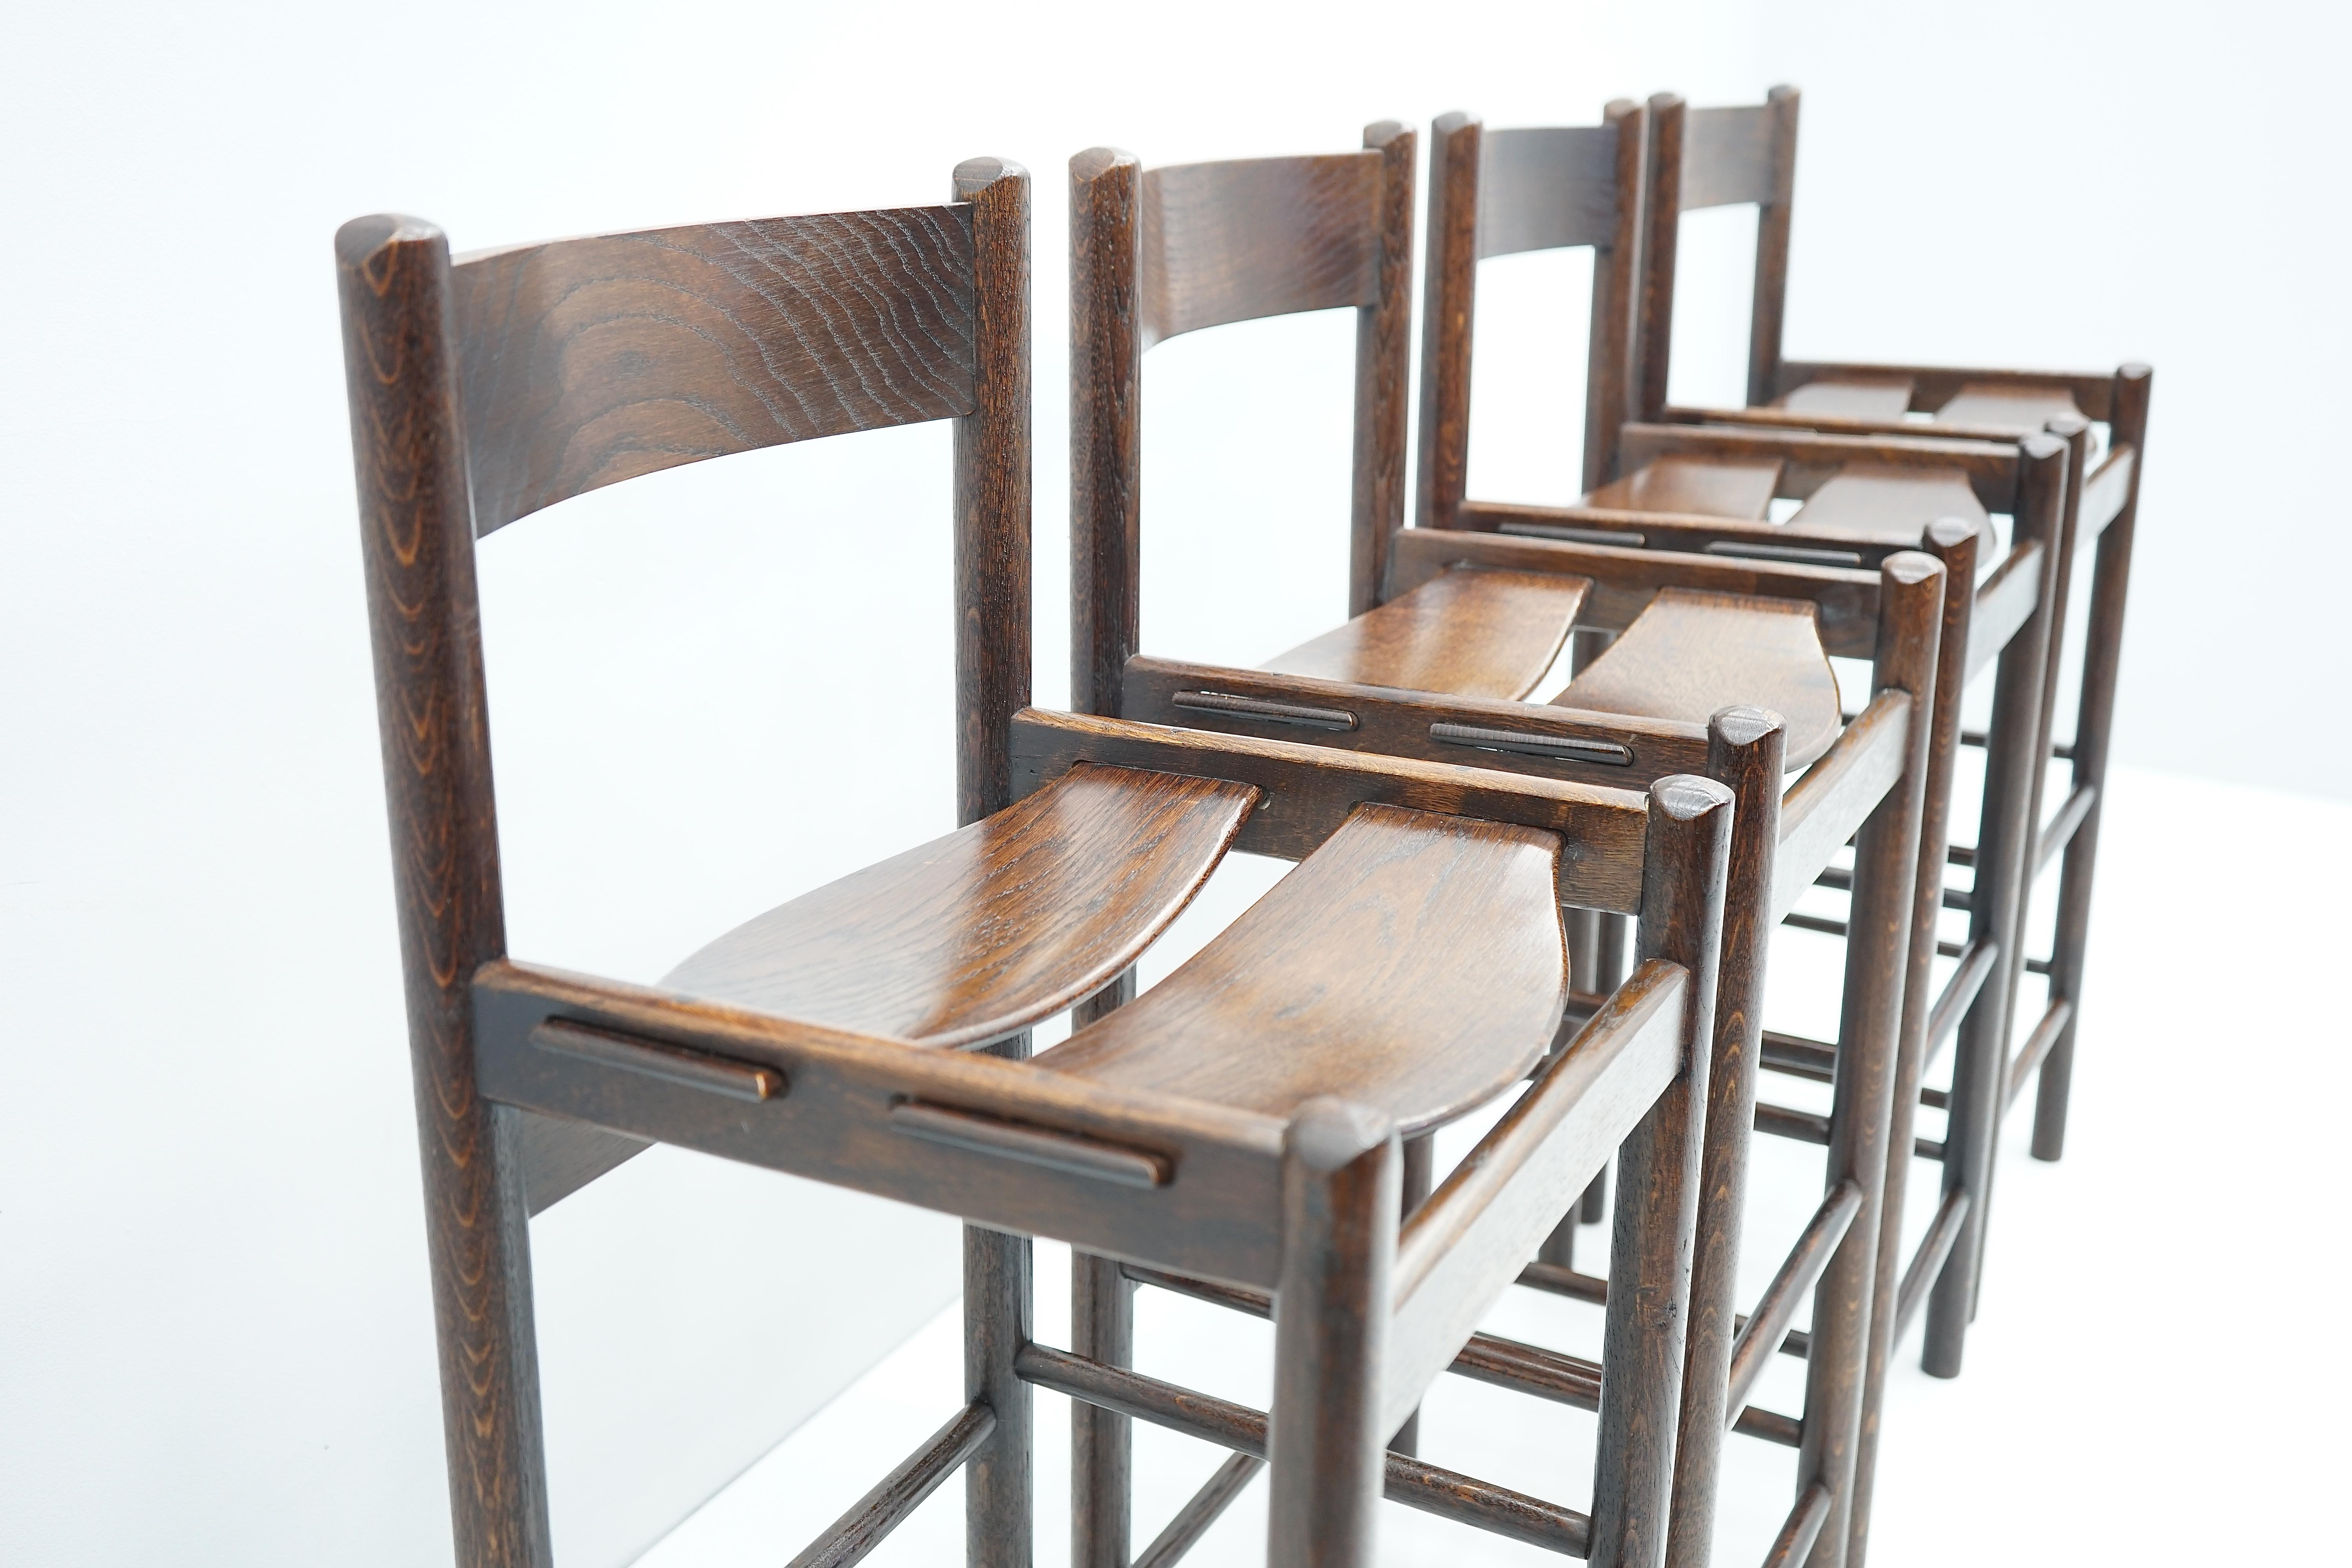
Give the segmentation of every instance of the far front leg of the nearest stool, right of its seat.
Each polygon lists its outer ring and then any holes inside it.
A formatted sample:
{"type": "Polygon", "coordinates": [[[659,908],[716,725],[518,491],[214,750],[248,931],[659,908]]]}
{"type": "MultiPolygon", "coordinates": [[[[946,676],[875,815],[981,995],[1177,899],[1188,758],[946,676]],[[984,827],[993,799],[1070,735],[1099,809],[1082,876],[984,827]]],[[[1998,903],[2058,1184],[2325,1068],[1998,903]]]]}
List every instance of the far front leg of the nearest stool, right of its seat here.
{"type": "Polygon", "coordinates": [[[1604,1568],[1665,1556],[1731,832],[1731,790],[1712,778],[1651,785],[1637,959],[1679,964],[1691,990],[1684,1070],[1618,1145],[1588,1556],[1604,1568]]]}

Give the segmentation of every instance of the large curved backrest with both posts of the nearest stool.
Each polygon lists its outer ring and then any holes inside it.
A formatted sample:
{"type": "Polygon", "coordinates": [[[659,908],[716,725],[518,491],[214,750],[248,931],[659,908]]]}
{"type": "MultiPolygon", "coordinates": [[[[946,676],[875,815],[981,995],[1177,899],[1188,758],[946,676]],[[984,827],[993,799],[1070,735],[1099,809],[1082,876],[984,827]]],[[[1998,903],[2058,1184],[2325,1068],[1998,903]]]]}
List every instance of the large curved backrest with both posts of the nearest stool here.
{"type": "Polygon", "coordinates": [[[1030,686],[1023,169],[971,160],[941,207],[456,261],[430,223],[355,219],[336,256],[386,745],[421,712],[480,715],[475,536],[680,463],[955,418],[957,809],[1011,802],[1007,726],[1030,686]],[[402,625],[449,646],[419,663],[402,625]]]}

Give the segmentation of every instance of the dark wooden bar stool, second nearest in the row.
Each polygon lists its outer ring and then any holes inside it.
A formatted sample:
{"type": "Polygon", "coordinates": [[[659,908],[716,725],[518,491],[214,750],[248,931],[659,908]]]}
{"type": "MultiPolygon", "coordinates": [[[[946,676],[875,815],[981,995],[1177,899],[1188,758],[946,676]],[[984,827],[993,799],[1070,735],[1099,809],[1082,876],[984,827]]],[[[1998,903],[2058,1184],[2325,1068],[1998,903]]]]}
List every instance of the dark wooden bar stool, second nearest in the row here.
{"type": "MultiPolygon", "coordinates": [[[[1482,752],[1484,766],[1595,783],[1703,769],[1733,792],[1724,1004],[1712,1046],[1675,1554],[1703,1561],[1715,1455],[1731,1425],[1804,1450],[1802,1502],[1788,1542],[1802,1554],[1851,1495],[1863,1434],[1889,1100],[1905,1025],[1910,1034],[1922,1027],[1903,1013],[1905,976],[1924,964],[1919,943],[1933,940],[1933,910],[1912,919],[1919,820],[1933,766],[1947,766],[1950,755],[1947,733],[1940,748],[1933,743],[1931,715],[1938,684],[1952,684],[1969,654],[1978,536],[1969,527],[1929,529],[1933,555],[1882,550],[1877,569],[1860,571],[1397,529],[1402,505],[1392,475],[1402,470],[1404,343],[1390,322],[1406,289],[1399,259],[1409,256],[1409,219],[1392,197],[1388,169],[1399,176],[1409,169],[1402,141],[1395,127],[1371,127],[1367,146],[1381,150],[1378,165],[1371,153],[1348,153],[1143,169],[1101,148],[1070,162],[1075,703],[1127,719],[1305,736],[1359,755],[1444,759],[1482,752]],[[1345,205],[1284,195],[1287,186],[1336,186],[1350,162],[1364,172],[1359,179],[1378,172],[1381,183],[1345,205]],[[1235,235],[1249,235],[1247,244],[1235,235]],[[1334,282],[1294,287],[1291,280],[1310,273],[1310,259],[1315,273],[1334,282]],[[1200,299],[1211,284],[1216,308],[1171,315],[1155,303],[1200,299]],[[1143,350],[1176,331],[1334,306],[1359,310],[1350,583],[1355,602],[1369,599],[1369,607],[1345,628],[1261,670],[1145,656],[1136,461],[1143,350]],[[1369,578],[1367,562],[1374,564],[1369,578]],[[1940,654],[1955,618],[1959,632],[1950,654],[1940,654]],[[1559,705],[1519,701],[1555,663],[1571,628],[1623,632],[1623,639],[1559,705]],[[1722,658],[1726,649],[1750,663],[1722,658]],[[1853,724],[1842,722],[1828,654],[1875,661],[1875,698],[1853,724]],[[1785,729],[1773,715],[1738,708],[1759,701],[1788,715],[1785,729]],[[1783,804],[1785,766],[1806,764],[1783,804]],[[1853,940],[1846,952],[1842,1037],[1849,1048],[1830,1053],[1837,1098],[1823,1121],[1828,1197],[1733,1352],[1731,1265],[1755,1103],[1764,938],[1856,832],[1858,910],[1863,929],[1882,936],[1853,940]],[[1790,1340],[1788,1326],[1816,1281],[1825,1281],[1820,1300],[1842,1302],[1842,1309],[1818,1316],[1806,1347],[1802,1335],[1790,1340]],[[1764,1356],[1783,1342],[1811,1352],[1802,1420],[1748,1408],[1764,1356]],[[1686,1540],[1700,1542],[1698,1559],[1686,1556],[1686,1540]]],[[[2006,451],[2016,463],[2016,449],[2006,451]]],[[[2058,468],[2037,470],[2039,482],[2063,470],[2060,454],[2049,458],[2058,468]]],[[[2016,470],[2006,480],[2018,482],[2016,470]]],[[[1581,954],[1571,969],[1590,961],[1581,954]]],[[[1592,985],[1590,971],[1585,976],[1592,985]]],[[[1571,1006],[1571,1020],[1583,1006],[1590,1004],[1571,1006]]],[[[1406,1168],[1411,1201],[1425,1187],[1411,1175],[1414,1154],[1406,1168]]],[[[1136,1279],[1244,1309],[1254,1305],[1183,1279],[1082,1262],[1073,1321],[1098,1359],[1131,1352],[1127,1288],[1136,1279]]],[[[1522,1284],[1611,1305],[1623,1291],[1623,1281],[1576,1274],[1557,1255],[1524,1269],[1522,1284]]],[[[1592,1385],[1571,1378],[1566,1359],[1534,1347],[1472,1342],[1454,1371],[1548,1399],[1590,1401],[1592,1385]]],[[[1087,1568],[1124,1563],[1127,1434],[1094,1420],[1080,1422],[1075,1436],[1075,1561],[1087,1568]]],[[[1411,1434],[1395,1448],[1409,1450],[1411,1434]]],[[[1167,1549],[1185,1544],[1183,1530],[1202,1514],[1214,1519],[1230,1497],[1218,1488],[1232,1481],[1211,1483],[1178,1516],[1178,1535],[1141,1561],[1155,1568],[1169,1561],[1167,1549]]]]}

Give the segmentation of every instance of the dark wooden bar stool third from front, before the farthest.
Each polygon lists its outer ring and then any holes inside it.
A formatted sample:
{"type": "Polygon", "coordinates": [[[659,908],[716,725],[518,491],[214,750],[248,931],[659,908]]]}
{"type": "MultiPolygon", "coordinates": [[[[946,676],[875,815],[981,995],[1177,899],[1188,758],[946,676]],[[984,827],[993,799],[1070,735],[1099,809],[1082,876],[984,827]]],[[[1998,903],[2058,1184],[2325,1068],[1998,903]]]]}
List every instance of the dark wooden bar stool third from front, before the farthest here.
{"type": "MultiPolygon", "coordinates": [[[[1889,1234],[1877,1276],[1882,1300],[1867,1399],[1875,1413],[1891,1340],[1900,1338],[1924,1302],[1947,1300],[1971,1276],[1971,1248],[1980,1234],[1969,1229],[1971,1215],[1983,1215],[1992,1180],[1992,1145],[1985,1131],[1999,1121],[2002,1107],[2025,1081],[2025,1072],[2006,1070],[2004,1063],[2023,957],[2018,933],[2025,929],[2027,856],[2037,853],[2027,823],[2039,813],[2056,628],[2065,609],[2063,583],[2074,517],[2082,515],[2079,475],[2089,423],[2053,414],[2046,433],[1971,428],[1969,440],[1922,440],[1903,428],[1813,433],[1785,421],[1719,428],[1700,425],[1696,416],[1679,423],[1618,423],[1618,397],[1625,388],[1630,400],[1642,404],[1663,386],[1658,353],[1661,322],[1672,301],[1670,254],[1661,280],[1658,266],[1635,268],[1625,261],[1625,252],[1635,244],[1632,235],[1644,228],[1642,202],[1635,200],[1644,188],[1639,150],[1672,141],[1658,132],[1658,125],[1665,125],[1658,115],[1675,110],[1672,103],[1653,103],[1649,110],[1613,103],[1602,127],[1510,132],[1486,132],[1463,115],[1439,120],[1423,317],[1421,522],[1475,534],[1613,538],[1710,555],[1865,564],[1884,559],[1889,550],[1917,548],[1922,527],[1938,515],[1971,527],[1983,543],[1990,543],[1987,510],[2011,515],[2009,552],[1976,592],[1966,670],[1957,675],[1959,684],[1947,696],[1952,703],[1947,712],[1957,719],[1964,684],[1999,661],[1994,722],[1987,733],[1966,736],[1990,748],[1978,839],[1973,849],[1947,851],[1943,844],[1950,764],[1940,764],[1922,839],[1922,853],[1931,865],[1950,853],[1976,865],[1976,882],[1973,889],[1933,893],[1945,905],[1971,910],[1969,940],[1922,947],[1922,959],[1940,952],[1957,964],[1933,1004],[1926,1001],[1926,971],[1917,973],[1915,1020],[1905,1030],[1891,1147],[1917,1147],[1940,1161],[1943,1199],[1912,1265],[1898,1274],[1907,1166],[1898,1164],[1889,1173],[1891,1201],[1884,1208],[1889,1234]],[[1512,249],[1559,244],[1595,244],[1602,254],[1595,266],[1585,428],[1585,475],[1592,489],[1578,505],[1566,508],[1470,501],[1465,470],[1477,261],[1512,249]],[[1618,369],[1618,355],[1628,343],[1637,348],[1635,364],[1646,369],[1635,374],[1618,369]],[[1611,473],[1618,477],[1609,480],[1611,473]],[[1783,496],[1802,498],[1802,505],[1773,524],[1766,520],[1766,503],[1783,496]],[[1726,517],[1708,520],[1703,510],[1726,517]],[[1910,1124],[1922,1093],[1919,1079],[1952,1037],[1959,1039],[1959,1048],[1950,1095],[1924,1091],[1931,1105],[1947,1110],[1950,1133],[1943,1143],[1915,1143],[1910,1124]],[[1952,1258],[1962,1262],[1950,1265],[1952,1258]]],[[[1689,143],[1700,150],[1722,146],[1748,143],[1712,129],[1689,143]]],[[[1729,153],[1722,160],[1726,167],[1715,167],[1696,153],[1684,155],[1686,165],[1708,169],[1698,188],[1710,200],[1731,200],[1750,188],[1740,183],[1743,179],[1755,179],[1752,169],[1729,153]]],[[[1651,176],[1646,188],[1656,193],[1658,179],[1651,176]]],[[[1649,212],[1646,228],[1651,256],[1661,244],[1670,247],[1670,235],[1661,240],[1656,209],[1649,212]]],[[[1766,259],[1773,254],[1776,235],[1785,249],[1785,233],[1773,226],[1769,209],[1759,240],[1766,259]]],[[[1778,270],[1759,263],[1759,301],[1773,299],[1766,277],[1778,277],[1778,270]]],[[[1766,315],[1759,306],[1759,322],[1766,315]]],[[[1947,635],[1957,635],[1957,628],[1947,635]]],[[[2053,853],[2060,842],[2058,830],[2044,835],[2039,853],[2053,853]]],[[[1844,922],[1811,914],[1795,914],[1792,924],[1844,933],[1844,922]]],[[[2037,1034],[2018,1060],[2030,1070],[2049,1039],[2049,1032],[2037,1034]]],[[[1825,1041],[1766,1037],[1764,1044],[1769,1067],[1802,1077],[1830,1072],[1832,1056],[1835,1046],[1825,1041]]],[[[1759,1110],[1757,1126],[1818,1138],[1813,1119],[1771,1105],[1759,1110]]],[[[1931,1333],[1929,1366],[1957,1371],[1957,1359],[1950,1363],[1938,1359],[1943,1347],[1947,1340],[1931,1333]]],[[[1856,1488],[1863,1505],[1870,1495],[1872,1453],[1865,1446],[1863,1479],[1856,1488]]],[[[1863,1519],[1856,1521],[1856,1542],[1863,1519]]]]}

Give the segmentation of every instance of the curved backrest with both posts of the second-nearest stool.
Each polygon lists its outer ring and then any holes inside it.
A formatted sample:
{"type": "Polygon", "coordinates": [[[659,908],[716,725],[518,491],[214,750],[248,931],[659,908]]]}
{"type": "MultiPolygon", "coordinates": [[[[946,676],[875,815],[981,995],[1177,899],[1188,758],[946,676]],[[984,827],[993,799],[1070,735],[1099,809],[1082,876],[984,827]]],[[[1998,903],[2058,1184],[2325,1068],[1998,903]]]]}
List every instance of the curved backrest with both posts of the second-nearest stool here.
{"type": "Polygon", "coordinates": [[[1348,614],[1404,522],[1414,132],[1364,150],[1145,169],[1070,160],[1070,703],[1117,712],[1141,602],[1143,350],[1183,331],[1355,306],[1348,614]]]}

